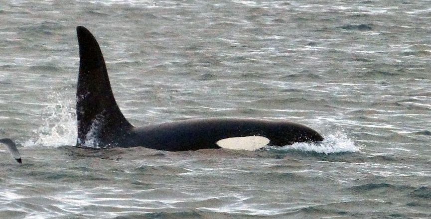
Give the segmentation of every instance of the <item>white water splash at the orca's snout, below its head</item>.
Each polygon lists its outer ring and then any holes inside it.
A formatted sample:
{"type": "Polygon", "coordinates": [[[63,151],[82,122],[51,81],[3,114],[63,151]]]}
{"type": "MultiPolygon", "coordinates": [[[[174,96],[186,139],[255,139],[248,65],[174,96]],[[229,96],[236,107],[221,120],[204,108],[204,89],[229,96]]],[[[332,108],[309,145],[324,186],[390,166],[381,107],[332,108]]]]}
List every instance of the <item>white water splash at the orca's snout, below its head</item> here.
{"type": "Polygon", "coordinates": [[[335,134],[329,134],[325,136],[322,142],[318,143],[294,143],[292,145],[286,145],[284,147],[270,147],[274,150],[299,150],[304,152],[316,152],[320,154],[331,154],[340,152],[358,152],[361,150],[361,146],[355,145],[352,139],[348,138],[346,134],[342,132],[336,132],[335,134]]]}

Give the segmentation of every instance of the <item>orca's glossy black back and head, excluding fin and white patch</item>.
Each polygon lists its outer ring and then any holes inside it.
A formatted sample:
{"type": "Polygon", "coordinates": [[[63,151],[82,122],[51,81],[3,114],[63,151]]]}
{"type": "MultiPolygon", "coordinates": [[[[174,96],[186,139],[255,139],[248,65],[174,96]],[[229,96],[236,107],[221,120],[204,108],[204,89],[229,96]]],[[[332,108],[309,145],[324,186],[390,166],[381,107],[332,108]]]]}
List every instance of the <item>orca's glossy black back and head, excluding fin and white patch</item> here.
{"type": "Polygon", "coordinates": [[[288,121],[204,118],[134,127],[118,145],[168,151],[198,150],[219,148],[216,143],[224,138],[253,135],[264,136],[270,139],[269,145],[276,146],[323,140],[313,129],[288,121]]]}

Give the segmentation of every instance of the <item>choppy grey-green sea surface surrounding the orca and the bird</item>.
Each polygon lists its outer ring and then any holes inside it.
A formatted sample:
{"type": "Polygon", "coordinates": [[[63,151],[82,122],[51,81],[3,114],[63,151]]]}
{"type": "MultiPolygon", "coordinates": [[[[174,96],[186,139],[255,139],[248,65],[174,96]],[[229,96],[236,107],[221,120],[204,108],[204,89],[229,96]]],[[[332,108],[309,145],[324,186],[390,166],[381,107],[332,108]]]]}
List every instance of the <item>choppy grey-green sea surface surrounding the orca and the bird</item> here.
{"type": "Polygon", "coordinates": [[[426,0],[1,0],[4,219],[429,219],[426,0]],[[76,26],[142,126],[287,119],[322,144],[259,151],[86,150],[76,26]]]}

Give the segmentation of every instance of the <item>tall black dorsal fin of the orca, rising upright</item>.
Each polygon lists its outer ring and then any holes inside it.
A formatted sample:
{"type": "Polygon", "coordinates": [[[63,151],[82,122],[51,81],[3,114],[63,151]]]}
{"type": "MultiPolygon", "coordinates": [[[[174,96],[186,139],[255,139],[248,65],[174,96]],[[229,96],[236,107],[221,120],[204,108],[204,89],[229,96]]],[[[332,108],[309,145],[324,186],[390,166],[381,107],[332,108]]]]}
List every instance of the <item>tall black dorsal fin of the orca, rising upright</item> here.
{"type": "Polygon", "coordinates": [[[79,43],[77,146],[115,146],[118,141],[114,136],[118,137],[119,131],[126,133],[133,126],[115,101],[99,44],[85,27],[78,26],[76,31],[79,43]]]}

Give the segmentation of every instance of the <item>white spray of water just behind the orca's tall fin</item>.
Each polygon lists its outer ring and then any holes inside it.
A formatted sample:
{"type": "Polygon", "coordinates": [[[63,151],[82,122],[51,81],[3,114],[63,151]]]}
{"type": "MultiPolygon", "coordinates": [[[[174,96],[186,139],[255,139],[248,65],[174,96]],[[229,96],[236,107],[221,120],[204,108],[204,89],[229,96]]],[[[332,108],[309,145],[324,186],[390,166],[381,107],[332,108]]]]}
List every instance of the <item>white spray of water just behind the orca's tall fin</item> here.
{"type": "Polygon", "coordinates": [[[36,137],[24,142],[24,146],[59,147],[74,145],[77,136],[75,102],[60,93],[48,96],[50,103],[42,110],[43,124],[33,132],[36,137]]]}

